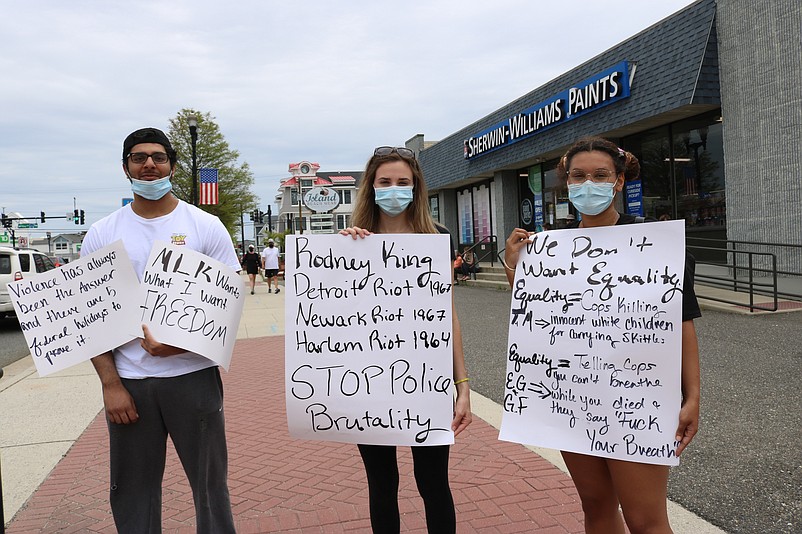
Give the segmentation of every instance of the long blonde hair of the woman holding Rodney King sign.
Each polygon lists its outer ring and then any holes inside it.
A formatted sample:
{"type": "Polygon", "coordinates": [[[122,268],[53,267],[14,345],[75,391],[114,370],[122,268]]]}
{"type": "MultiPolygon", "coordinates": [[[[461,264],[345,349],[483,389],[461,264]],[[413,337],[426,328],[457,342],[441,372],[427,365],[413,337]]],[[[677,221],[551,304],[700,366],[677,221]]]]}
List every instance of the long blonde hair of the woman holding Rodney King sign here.
{"type": "Polygon", "coordinates": [[[371,232],[378,231],[381,210],[376,205],[376,193],[373,182],[376,180],[376,171],[385,164],[394,161],[403,161],[412,170],[412,202],[403,212],[409,218],[412,230],[416,234],[438,233],[432,215],[429,213],[429,194],[426,182],[423,181],[423,171],[415,158],[405,158],[397,152],[385,156],[374,155],[368,160],[362,182],[354,203],[354,212],[351,216],[351,225],[364,228],[371,232]]]}

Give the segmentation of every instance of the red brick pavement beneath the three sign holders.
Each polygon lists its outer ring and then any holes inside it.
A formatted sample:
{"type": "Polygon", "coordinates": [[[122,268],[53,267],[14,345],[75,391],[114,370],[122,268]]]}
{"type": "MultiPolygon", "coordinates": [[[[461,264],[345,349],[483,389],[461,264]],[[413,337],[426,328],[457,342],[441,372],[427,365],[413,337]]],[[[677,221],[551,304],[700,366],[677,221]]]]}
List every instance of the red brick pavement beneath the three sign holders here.
{"type": "MultiPolygon", "coordinates": [[[[240,340],[223,374],[229,487],[240,534],[369,532],[367,483],[354,445],[290,437],[284,411],[284,338],[240,340]]],[[[101,415],[15,516],[8,534],[112,533],[108,435],[101,415]]],[[[426,532],[408,448],[399,448],[402,531],[426,532]]],[[[570,478],[475,418],[451,449],[460,533],[583,531],[570,478]]],[[[192,494],[168,452],[164,532],[192,534],[192,494]]]]}

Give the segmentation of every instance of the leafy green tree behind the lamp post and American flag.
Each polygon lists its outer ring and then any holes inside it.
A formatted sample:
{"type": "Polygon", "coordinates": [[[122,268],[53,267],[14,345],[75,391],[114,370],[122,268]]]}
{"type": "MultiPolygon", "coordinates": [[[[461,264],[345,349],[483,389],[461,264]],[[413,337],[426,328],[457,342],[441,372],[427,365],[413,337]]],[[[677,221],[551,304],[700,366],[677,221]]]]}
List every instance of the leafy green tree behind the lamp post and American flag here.
{"type": "Polygon", "coordinates": [[[173,193],[186,202],[192,202],[192,139],[187,122],[190,115],[198,120],[195,151],[198,169],[217,169],[219,191],[218,204],[198,207],[219,217],[233,236],[240,223],[240,213],[258,205],[256,196],[251,192],[253,174],[247,163],[237,162],[239,152],[229,147],[220,127],[209,113],[185,108],[170,119],[167,136],[178,152],[173,193]]]}

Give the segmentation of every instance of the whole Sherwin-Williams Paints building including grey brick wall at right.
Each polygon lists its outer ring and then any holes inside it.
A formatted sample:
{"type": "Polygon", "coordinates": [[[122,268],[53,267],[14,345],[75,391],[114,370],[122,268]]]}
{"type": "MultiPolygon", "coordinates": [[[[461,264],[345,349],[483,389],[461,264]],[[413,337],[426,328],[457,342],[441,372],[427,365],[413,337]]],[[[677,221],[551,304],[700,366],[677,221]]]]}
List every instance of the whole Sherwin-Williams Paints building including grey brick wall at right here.
{"type": "Polygon", "coordinates": [[[770,243],[802,272],[802,182],[777,176],[802,176],[802,4],[756,2],[699,0],[445,139],[411,138],[432,214],[461,246],[564,227],[557,162],[595,135],[641,164],[619,211],[770,243]]]}

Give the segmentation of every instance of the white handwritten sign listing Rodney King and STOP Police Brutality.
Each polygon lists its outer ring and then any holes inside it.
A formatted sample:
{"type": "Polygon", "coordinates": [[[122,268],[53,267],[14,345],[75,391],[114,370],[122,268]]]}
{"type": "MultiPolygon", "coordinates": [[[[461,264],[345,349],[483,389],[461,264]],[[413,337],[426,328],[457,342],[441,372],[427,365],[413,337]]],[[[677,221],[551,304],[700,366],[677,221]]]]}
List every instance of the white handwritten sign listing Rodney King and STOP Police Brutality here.
{"type": "Polygon", "coordinates": [[[290,433],[375,445],[453,443],[448,236],[288,237],[290,433]]]}

